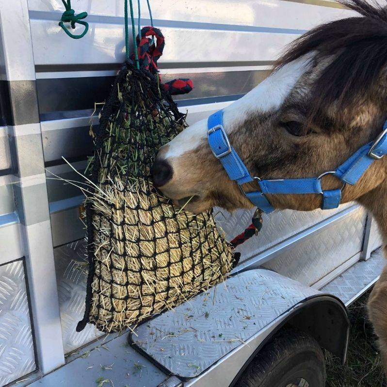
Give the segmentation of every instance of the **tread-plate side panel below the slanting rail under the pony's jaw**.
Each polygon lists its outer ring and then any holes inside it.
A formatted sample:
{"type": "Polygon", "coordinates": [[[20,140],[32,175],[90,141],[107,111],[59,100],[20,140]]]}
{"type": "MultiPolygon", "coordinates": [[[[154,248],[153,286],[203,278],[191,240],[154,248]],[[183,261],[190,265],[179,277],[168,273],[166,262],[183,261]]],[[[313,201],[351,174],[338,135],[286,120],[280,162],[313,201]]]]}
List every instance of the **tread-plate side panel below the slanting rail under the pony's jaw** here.
{"type": "Polygon", "coordinates": [[[350,216],[296,243],[263,266],[310,286],[361,251],[366,211],[350,216]]]}

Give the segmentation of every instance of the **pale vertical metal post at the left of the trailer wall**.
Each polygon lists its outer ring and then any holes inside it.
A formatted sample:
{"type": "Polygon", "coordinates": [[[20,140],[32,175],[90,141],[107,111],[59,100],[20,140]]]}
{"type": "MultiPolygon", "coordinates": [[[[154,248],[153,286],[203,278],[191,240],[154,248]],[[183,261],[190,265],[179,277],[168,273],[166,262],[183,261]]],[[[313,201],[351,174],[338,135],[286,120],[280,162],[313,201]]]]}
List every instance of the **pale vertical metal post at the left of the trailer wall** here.
{"type": "MultiPolygon", "coordinates": [[[[35,71],[27,0],[11,2],[0,0],[0,10],[0,47],[4,61],[3,81],[29,81],[30,84],[33,84],[35,71]],[[16,17],[9,17],[9,15],[16,17]]],[[[30,98],[34,98],[33,94],[30,98]]],[[[36,107],[36,97],[32,104],[36,107]]],[[[39,144],[38,137],[41,135],[40,124],[8,127],[8,134],[13,136],[15,144],[14,168],[18,176],[22,177],[18,186],[14,185],[14,191],[16,192],[17,189],[19,193],[16,203],[17,211],[25,221],[25,223],[21,221],[22,224],[17,230],[20,231],[20,242],[14,242],[14,245],[17,248],[22,245],[26,262],[37,363],[40,370],[49,372],[64,364],[64,354],[47,194],[36,197],[34,203],[31,202],[31,197],[28,195],[28,192],[31,192],[29,190],[34,187],[44,193],[47,192],[44,175],[42,175],[44,173],[42,145],[41,140],[39,144]],[[26,144],[31,144],[31,149],[26,149],[26,144]],[[30,167],[24,162],[28,152],[31,152],[29,154],[32,161],[30,167]],[[24,158],[23,161],[21,161],[22,158],[24,158]],[[29,225],[30,218],[46,220],[29,225]]],[[[15,225],[12,228],[6,228],[11,233],[10,236],[15,238],[15,225]]],[[[17,248],[12,252],[9,251],[8,257],[15,255],[17,248]]]]}

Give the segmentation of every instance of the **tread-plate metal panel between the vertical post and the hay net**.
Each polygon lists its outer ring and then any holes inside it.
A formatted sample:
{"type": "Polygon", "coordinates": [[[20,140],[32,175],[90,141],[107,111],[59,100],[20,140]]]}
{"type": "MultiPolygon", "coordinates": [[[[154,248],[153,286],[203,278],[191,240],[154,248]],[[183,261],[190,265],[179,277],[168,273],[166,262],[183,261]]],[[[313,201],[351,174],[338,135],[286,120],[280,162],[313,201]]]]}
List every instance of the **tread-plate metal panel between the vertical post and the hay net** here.
{"type": "Polygon", "coordinates": [[[75,330],[85,308],[87,275],[85,253],[86,245],[83,240],[54,249],[65,354],[103,335],[92,324],[87,324],[81,332],[75,330]]]}

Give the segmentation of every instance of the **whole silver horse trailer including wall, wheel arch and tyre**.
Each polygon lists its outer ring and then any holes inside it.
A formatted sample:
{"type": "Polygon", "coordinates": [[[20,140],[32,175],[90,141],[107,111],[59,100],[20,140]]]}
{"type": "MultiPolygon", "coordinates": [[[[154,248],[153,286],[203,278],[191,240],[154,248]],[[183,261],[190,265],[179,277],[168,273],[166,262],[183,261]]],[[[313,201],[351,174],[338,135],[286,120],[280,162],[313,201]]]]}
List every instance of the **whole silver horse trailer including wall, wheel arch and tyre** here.
{"type": "MultiPolygon", "coordinates": [[[[189,124],[256,86],[297,36],[351,15],[334,0],[151,6],[167,42],[162,80],[194,81],[176,98],[189,124]]],[[[90,324],[76,332],[87,275],[84,197],[66,181],[85,170],[90,125],[125,42],[123,0],[72,7],[88,13],[81,39],[58,26],[61,0],[0,0],[0,386],[262,386],[258,369],[274,375],[265,386],[324,386],[322,348],[345,361],[346,306],[383,267],[377,225],[355,203],[264,215],[223,284],[124,332],[90,324]]],[[[214,214],[229,240],[252,217],[214,214]]]]}

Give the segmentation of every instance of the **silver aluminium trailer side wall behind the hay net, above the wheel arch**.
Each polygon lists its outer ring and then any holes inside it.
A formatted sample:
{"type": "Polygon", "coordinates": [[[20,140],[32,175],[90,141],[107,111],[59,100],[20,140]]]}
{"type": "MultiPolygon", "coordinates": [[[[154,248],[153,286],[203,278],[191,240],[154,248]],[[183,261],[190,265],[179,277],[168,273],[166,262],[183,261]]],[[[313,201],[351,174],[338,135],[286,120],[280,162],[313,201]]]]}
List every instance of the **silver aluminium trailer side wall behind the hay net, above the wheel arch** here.
{"type": "MultiPolygon", "coordinates": [[[[162,78],[194,80],[194,91],[177,98],[189,122],[258,84],[294,38],[351,14],[327,0],[151,5],[166,38],[162,78]]],[[[124,60],[124,6],[123,0],[73,0],[72,6],[89,14],[89,32],[80,40],[58,27],[61,0],[0,0],[0,386],[51,371],[100,334],[93,327],[75,333],[84,302],[84,274],[73,262],[83,259],[77,242],[84,236],[82,196],[52,174],[79,179],[62,157],[85,168],[95,102],[107,96],[124,60]]],[[[141,6],[142,25],[148,25],[145,0],[141,6]]],[[[216,212],[229,237],[251,217],[248,211],[216,212]]],[[[264,264],[319,288],[380,243],[375,223],[352,204],[276,211],[241,248],[242,266],[264,264]]]]}

